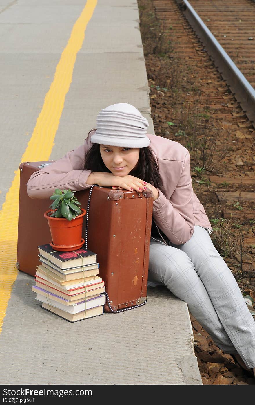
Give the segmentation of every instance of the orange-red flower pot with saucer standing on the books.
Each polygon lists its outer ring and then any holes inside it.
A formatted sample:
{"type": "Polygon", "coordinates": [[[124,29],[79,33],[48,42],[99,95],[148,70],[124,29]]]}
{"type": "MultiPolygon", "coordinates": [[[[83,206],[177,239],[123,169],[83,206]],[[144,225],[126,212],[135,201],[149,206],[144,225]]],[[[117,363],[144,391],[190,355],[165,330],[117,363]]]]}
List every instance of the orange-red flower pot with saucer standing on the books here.
{"type": "Polygon", "coordinates": [[[50,245],[53,249],[61,252],[70,252],[82,247],[85,242],[82,239],[82,224],[86,210],[81,208],[81,211],[82,214],[71,221],[68,221],[66,218],[49,217],[47,214],[52,212],[52,209],[44,213],[44,217],[47,218],[50,227],[52,238],[50,245]]]}

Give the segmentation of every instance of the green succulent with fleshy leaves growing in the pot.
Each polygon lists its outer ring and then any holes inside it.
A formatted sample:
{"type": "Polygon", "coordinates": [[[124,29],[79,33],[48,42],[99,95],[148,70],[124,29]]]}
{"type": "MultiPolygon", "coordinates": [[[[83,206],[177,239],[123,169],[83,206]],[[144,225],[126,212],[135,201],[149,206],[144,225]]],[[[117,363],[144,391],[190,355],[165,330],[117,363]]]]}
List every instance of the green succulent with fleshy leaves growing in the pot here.
{"type": "Polygon", "coordinates": [[[66,218],[68,221],[71,221],[82,213],[78,207],[81,204],[70,189],[59,190],[59,188],[56,188],[53,195],[50,196],[50,200],[54,200],[49,206],[49,208],[54,210],[50,217],[66,218]]]}

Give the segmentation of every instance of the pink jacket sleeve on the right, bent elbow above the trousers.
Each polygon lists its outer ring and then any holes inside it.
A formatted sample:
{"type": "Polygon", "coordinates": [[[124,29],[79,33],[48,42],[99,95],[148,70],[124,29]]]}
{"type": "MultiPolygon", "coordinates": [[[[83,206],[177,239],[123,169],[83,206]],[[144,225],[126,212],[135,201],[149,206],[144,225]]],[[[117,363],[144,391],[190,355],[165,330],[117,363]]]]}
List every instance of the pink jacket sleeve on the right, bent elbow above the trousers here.
{"type": "Polygon", "coordinates": [[[186,243],[194,232],[193,188],[190,176],[190,154],[185,156],[177,186],[169,198],[160,191],[153,203],[153,217],[169,241],[175,245],[186,243]]]}

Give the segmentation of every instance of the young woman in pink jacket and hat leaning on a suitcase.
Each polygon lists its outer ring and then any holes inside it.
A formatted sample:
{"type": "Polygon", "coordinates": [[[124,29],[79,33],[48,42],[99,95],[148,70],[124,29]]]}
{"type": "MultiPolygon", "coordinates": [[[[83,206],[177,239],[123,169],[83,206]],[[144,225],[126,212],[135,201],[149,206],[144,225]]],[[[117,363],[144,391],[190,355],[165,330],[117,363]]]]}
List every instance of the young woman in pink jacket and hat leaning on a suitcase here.
{"type": "Polygon", "coordinates": [[[209,236],[211,224],[192,189],[189,152],[147,129],[147,119],[131,104],[102,109],[84,145],[34,173],[27,193],[48,198],[55,188],[78,191],[92,184],[152,190],[157,233],[148,285],[164,284],[185,301],[219,347],[255,375],[255,322],[209,236]]]}

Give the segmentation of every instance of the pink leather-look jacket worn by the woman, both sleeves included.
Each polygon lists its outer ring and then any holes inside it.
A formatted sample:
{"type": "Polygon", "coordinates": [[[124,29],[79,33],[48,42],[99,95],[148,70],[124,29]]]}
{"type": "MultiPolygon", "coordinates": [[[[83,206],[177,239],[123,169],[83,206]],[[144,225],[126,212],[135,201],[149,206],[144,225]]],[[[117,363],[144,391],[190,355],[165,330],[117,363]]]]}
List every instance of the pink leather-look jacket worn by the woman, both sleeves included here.
{"type": "MultiPolygon", "coordinates": [[[[56,188],[84,190],[90,170],[83,170],[85,153],[91,147],[91,134],[85,143],[65,157],[33,173],[27,182],[31,198],[49,198],[56,188]]],[[[153,203],[153,217],[172,243],[181,245],[193,234],[194,225],[210,228],[204,208],[193,192],[190,177],[190,154],[180,143],[147,134],[158,162],[163,190],[153,203]]]]}

